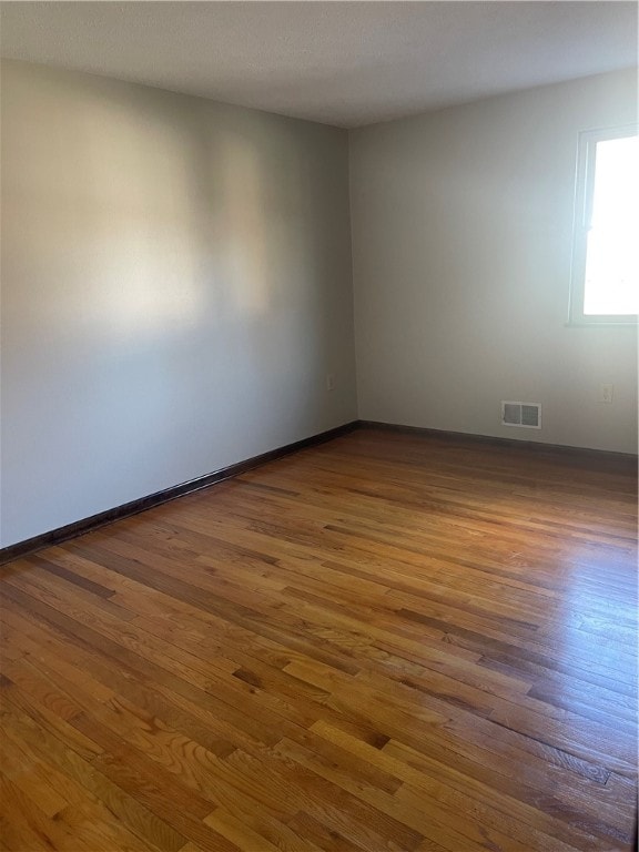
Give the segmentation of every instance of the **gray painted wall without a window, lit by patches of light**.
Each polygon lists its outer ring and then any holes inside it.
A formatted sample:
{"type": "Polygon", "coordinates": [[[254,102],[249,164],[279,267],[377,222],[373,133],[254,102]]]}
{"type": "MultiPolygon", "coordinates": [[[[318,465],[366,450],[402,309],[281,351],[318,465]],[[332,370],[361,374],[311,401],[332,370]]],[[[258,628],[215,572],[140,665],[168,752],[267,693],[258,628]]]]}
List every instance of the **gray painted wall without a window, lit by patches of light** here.
{"type": "Polygon", "coordinates": [[[345,131],[2,64],[2,546],[356,417],[347,169],[345,131]]]}

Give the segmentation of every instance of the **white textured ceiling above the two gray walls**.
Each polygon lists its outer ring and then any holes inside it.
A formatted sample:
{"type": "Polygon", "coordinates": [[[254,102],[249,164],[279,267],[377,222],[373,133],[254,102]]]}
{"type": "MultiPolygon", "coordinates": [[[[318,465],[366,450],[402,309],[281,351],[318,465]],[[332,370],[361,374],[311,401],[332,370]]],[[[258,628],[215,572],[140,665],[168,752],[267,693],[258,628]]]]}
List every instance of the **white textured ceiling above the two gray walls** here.
{"type": "Polygon", "coordinates": [[[3,2],[4,57],[339,126],[637,64],[635,2],[3,2]]]}

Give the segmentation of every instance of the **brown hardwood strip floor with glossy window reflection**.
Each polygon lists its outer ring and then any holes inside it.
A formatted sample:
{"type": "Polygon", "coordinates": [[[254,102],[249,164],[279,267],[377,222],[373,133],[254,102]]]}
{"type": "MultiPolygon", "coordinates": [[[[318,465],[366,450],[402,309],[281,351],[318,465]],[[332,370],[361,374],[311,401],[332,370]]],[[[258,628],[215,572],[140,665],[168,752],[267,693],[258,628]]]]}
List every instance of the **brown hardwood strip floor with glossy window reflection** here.
{"type": "Polygon", "coordinates": [[[630,850],[636,500],[358,430],[7,566],[0,849],[630,850]]]}

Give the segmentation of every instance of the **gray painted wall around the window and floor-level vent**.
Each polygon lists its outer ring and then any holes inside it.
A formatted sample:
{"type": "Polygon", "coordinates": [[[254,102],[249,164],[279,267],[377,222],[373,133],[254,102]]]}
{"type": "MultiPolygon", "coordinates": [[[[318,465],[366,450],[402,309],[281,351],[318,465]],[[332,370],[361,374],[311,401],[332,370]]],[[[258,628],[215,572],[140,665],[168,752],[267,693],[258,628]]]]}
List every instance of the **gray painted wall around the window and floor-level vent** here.
{"type": "Polygon", "coordinates": [[[362,418],[637,452],[636,328],[566,327],[577,136],[636,116],[629,71],[351,131],[362,418]]]}

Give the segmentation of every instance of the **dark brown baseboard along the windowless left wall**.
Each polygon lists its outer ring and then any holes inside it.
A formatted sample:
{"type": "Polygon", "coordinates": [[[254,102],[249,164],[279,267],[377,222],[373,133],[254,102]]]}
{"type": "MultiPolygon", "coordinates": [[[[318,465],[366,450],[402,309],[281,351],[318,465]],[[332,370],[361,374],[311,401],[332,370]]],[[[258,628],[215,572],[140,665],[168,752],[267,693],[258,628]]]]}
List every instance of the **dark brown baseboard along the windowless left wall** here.
{"type": "Polygon", "coordinates": [[[337,426],[334,429],[322,432],[318,435],[312,435],[308,438],[296,440],[293,444],[286,444],[276,449],[271,449],[268,453],[262,453],[260,456],[247,458],[235,465],[229,465],[229,467],[214,470],[212,474],[199,476],[195,479],[190,479],[186,483],[181,483],[180,485],[174,485],[170,488],[164,488],[162,491],[155,491],[155,494],[151,494],[146,497],[140,497],[139,499],[131,500],[122,506],[116,506],[113,509],[106,509],[105,511],[92,515],[89,518],[82,518],[73,524],[67,524],[64,527],[58,527],[58,529],[52,529],[40,536],[28,538],[24,541],[17,541],[14,545],[9,545],[8,547],[0,549],[0,565],[6,565],[14,559],[29,556],[29,554],[33,554],[36,550],[41,550],[44,547],[61,545],[63,541],[68,541],[71,538],[78,538],[78,536],[83,536],[85,532],[91,532],[94,529],[104,527],[108,524],[113,524],[122,518],[128,518],[131,515],[138,515],[154,506],[161,506],[163,503],[169,503],[178,497],[183,497],[185,494],[192,494],[202,488],[209,488],[224,479],[231,479],[234,476],[240,476],[241,474],[246,473],[246,470],[264,465],[266,462],[273,462],[276,458],[282,458],[282,456],[287,456],[291,453],[296,453],[301,449],[306,449],[307,447],[314,447],[318,444],[324,444],[327,440],[333,440],[333,438],[338,438],[342,435],[347,435],[358,428],[358,420],[352,420],[351,423],[337,426]]]}

